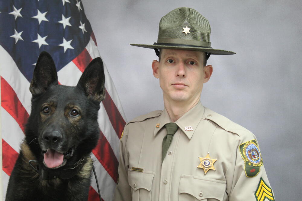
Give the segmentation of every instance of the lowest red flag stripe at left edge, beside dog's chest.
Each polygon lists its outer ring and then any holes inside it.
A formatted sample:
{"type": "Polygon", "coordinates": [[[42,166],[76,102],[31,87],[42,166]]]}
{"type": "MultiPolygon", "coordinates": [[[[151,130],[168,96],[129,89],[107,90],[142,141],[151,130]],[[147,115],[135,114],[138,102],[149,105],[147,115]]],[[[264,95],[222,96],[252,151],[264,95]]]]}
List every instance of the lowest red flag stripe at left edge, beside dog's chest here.
{"type": "Polygon", "coordinates": [[[18,152],[2,139],[2,170],[8,176],[11,176],[11,171],[13,171],[18,155],[18,152]]]}

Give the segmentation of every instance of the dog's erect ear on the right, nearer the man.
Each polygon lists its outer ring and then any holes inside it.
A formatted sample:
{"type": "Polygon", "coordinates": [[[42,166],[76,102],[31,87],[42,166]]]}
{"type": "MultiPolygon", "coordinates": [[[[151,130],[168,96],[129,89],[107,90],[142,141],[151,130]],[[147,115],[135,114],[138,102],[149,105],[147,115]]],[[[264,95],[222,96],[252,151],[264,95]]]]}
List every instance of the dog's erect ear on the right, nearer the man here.
{"type": "Polygon", "coordinates": [[[83,72],[77,87],[82,88],[89,99],[101,102],[105,99],[105,75],[100,57],[93,59],[83,72]]]}

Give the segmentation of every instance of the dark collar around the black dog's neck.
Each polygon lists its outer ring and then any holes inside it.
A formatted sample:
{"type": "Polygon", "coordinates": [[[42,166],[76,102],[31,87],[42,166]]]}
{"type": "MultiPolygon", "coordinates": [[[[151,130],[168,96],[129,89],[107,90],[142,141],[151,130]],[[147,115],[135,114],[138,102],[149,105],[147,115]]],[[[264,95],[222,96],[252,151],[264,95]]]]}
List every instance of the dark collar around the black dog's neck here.
{"type": "Polygon", "coordinates": [[[52,169],[45,167],[42,162],[38,162],[37,160],[30,160],[28,163],[31,168],[34,169],[34,171],[41,175],[42,179],[50,180],[56,178],[70,179],[83,168],[86,161],[87,159],[83,157],[82,159],[78,160],[75,164],[73,164],[72,168],[67,168],[60,171],[53,171],[52,169]],[[32,163],[36,163],[36,166],[34,166],[32,163]]]}

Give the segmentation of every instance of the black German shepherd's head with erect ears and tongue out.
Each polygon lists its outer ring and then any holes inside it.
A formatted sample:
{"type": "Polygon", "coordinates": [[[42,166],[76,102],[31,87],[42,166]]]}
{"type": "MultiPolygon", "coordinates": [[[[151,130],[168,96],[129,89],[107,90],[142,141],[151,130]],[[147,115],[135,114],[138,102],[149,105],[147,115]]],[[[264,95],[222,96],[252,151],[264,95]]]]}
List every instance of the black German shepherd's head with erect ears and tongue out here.
{"type": "MultiPolygon", "coordinates": [[[[72,72],[65,79],[74,79],[72,72]]],[[[97,118],[105,98],[104,83],[99,57],[90,62],[77,86],[63,86],[58,84],[51,56],[40,54],[30,86],[33,97],[25,133],[38,161],[48,168],[66,168],[92,151],[100,132],[97,118]]]]}

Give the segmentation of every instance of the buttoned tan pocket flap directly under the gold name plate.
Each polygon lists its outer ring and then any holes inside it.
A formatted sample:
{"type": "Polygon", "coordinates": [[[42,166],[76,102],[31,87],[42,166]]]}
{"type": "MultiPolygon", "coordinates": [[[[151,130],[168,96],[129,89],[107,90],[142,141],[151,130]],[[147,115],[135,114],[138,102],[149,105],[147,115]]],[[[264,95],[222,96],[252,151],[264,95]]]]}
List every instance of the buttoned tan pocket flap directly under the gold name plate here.
{"type": "Polygon", "coordinates": [[[154,172],[151,171],[138,172],[128,169],[128,183],[134,191],[140,188],[150,191],[153,177],[154,172]]]}

